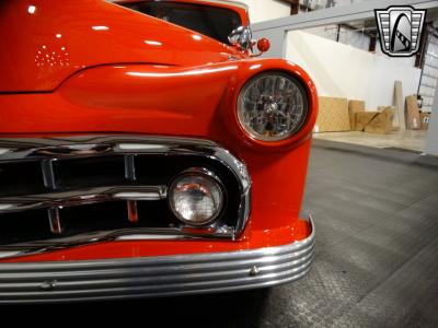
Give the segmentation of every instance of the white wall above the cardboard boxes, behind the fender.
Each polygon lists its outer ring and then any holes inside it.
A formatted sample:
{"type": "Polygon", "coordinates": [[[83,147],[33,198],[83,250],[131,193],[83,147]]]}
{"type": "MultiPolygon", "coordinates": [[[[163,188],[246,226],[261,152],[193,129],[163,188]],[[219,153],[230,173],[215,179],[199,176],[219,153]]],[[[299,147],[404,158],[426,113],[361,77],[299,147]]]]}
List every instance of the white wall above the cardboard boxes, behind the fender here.
{"type": "Polygon", "coordinates": [[[411,63],[314,34],[289,32],[286,54],[308,71],[320,95],[362,99],[367,109],[393,104],[395,80],[402,81],[404,95],[417,93],[420,70],[411,63]]]}

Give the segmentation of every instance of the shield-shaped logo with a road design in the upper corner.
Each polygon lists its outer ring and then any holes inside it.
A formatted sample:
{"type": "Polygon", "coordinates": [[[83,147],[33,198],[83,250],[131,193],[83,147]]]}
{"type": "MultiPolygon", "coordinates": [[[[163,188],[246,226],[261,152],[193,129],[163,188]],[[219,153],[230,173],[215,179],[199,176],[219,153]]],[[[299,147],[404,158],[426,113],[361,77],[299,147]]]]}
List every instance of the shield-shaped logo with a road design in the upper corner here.
{"type": "Polygon", "coordinates": [[[418,52],[426,10],[392,5],[374,10],[382,51],[392,57],[418,52]]]}

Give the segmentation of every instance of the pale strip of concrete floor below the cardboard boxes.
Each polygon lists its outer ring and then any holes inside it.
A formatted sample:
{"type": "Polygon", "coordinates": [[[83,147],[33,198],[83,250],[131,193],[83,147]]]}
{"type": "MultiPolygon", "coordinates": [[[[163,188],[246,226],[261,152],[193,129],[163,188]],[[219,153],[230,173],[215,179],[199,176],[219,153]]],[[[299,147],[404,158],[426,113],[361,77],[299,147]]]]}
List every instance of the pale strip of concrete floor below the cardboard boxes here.
{"type": "Polygon", "coordinates": [[[394,131],[390,134],[349,131],[314,133],[313,138],[376,148],[400,148],[424,152],[426,133],[427,131],[425,130],[394,131]]]}

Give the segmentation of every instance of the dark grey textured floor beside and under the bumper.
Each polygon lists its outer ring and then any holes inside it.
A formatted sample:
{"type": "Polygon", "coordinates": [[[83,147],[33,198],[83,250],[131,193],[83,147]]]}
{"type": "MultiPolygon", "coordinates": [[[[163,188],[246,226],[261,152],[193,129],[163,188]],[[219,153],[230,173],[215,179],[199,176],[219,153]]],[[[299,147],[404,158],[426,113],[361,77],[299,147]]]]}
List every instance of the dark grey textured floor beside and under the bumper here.
{"type": "Polygon", "coordinates": [[[108,303],[101,316],[123,306],[175,327],[438,327],[437,157],[314,140],[303,208],[318,248],[299,282],[108,303]]]}

